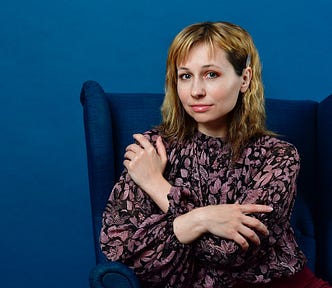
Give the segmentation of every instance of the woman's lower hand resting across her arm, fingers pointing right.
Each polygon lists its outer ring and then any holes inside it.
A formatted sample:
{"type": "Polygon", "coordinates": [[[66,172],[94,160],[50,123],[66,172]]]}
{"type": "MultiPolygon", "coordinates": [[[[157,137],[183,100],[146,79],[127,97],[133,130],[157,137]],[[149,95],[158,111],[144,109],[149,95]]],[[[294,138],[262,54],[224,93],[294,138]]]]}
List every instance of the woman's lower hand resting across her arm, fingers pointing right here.
{"type": "Polygon", "coordinates": [[[257,233],[269,234],[267,227],[253,213],[268,213],[270,206],[259,204],[221,204],[196,208],[174,220],[174,233],[182,243],[191,243],[205,233],[235,241],[243,250],[249,242],[259,245],[257,233]]]}

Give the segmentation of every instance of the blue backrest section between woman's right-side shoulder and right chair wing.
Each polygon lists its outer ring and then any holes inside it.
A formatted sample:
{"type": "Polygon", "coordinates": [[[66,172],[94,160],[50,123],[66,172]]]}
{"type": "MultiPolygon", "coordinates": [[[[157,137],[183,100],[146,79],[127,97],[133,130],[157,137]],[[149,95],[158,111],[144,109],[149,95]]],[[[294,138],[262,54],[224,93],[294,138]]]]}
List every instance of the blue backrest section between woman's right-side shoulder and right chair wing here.
{"type": "Polygon", "coordinates": [[[317,239],[314,214],[317,210],[317,109],[311,100],[266,99],[267,126],[280,138],[294,144],[301,157],[297,199],[292,215],[297,242],[315,271],[317,239]]]}

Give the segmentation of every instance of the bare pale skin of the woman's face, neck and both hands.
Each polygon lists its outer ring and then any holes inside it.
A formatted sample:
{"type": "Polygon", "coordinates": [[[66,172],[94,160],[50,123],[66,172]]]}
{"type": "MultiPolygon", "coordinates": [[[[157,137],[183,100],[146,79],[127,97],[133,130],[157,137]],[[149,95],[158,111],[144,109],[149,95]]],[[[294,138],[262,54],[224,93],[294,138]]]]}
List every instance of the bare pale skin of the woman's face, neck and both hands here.
{"type": "MultiPolygon", "coordinates": [[[[178,95],[186,112],[192,116],[198,130],[206,135],[223,137],[227,132],[227,115],[234,108],[239,92],[248,89],[252,71],[244,69],[236,75],[223,50],[209,53],[208,46],[195,46],[185,63],[178,66],[178,95]]],[[[133,135],[137,144],[125,152],[124,166],[133,181],[167,212],[167,195],[171,184],[164,178],[166,149],[161,137],[156,148],[142,135],[133,135]]],[[[259,245],[258,233],[268,235],[267,227],[252,213],[269,213],[272,208],[259,204],[220,204],[199,207],[178,216],[174,233],[181,243],[189,244],[205,233],[235,241],[242,249],[259,245]]]]}

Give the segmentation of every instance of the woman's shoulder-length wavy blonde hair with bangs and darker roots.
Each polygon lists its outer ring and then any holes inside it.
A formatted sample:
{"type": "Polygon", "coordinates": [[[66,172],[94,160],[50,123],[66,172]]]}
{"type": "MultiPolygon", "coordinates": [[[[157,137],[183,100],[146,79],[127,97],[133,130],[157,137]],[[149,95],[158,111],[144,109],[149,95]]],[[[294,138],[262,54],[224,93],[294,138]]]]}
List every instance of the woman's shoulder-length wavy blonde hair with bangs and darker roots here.
{"type": "Polygon", "coordinates": [[[211,52],[221,48],[237,75],[250,66],[252,79],[246,92],[239,94],[230,113],[227,142],[233,156],[253,137],[273,134],[265,126],[264,88],[258,51],[249,33],[229,22],[202,22],[184,28],[173,40],[166,63],[165,98],[161,107],[160,128],[171,141],[184,141],[193,135],[197,123],[184,110],[177,94],[177,67],[186,61],[190,50],[198,44],[208,44],[211,52]]]}

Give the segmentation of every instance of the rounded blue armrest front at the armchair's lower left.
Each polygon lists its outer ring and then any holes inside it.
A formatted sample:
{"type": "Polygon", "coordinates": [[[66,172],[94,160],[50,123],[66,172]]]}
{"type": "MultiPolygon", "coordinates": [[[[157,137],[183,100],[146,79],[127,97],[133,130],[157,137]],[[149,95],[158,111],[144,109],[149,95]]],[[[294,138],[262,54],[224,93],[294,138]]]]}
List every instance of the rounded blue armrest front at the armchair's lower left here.
{"type": "Polygon", "coordinates": [[[91,288],[140,288],[132,269],[120,262],[98,264],[90,271],[91,288]]]}

